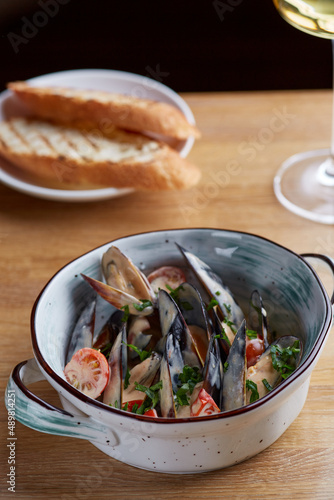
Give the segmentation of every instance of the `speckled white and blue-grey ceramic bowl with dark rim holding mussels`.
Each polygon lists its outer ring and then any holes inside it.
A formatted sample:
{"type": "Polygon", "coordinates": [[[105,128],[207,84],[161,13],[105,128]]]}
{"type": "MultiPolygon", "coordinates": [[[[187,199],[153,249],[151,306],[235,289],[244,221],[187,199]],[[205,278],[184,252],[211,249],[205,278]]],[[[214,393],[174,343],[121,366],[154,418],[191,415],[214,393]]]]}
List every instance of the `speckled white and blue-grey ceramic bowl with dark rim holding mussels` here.
{"type": "MultiPolygon", "coordinates": [[[[191,419],[131,414],[77,391],[66,382],[63,369],[71,328],[91,300],[92,291],[80,273],[101,279],[101,256],[111,245],[107,243],[61,269],[36,300],[31,317],[35,359],[15,367],[7,387],[16,393],[17,420],[41,432],[87,439],[127,464],[169,473],[204,472],[239,463],[270,446],[289,427],[304,405],[311,372],[325,345],[333,297],[328,297],[302,256],[248,233],[172,230],[120,238],[112,244],[145,271],[162,264],[183,266],[175,242],[223,276],[242,308],[254,289],[261,291],[271,326],[302,340],[298,369],[248,406],[191,419]],[[27,389],[42,378],[58,391],[64,410],[27,389]]],[[[318,258],[334,275],[333,261],[318,258]]],[[[103,313],[100,310],[99,315],[103,313]]]]}

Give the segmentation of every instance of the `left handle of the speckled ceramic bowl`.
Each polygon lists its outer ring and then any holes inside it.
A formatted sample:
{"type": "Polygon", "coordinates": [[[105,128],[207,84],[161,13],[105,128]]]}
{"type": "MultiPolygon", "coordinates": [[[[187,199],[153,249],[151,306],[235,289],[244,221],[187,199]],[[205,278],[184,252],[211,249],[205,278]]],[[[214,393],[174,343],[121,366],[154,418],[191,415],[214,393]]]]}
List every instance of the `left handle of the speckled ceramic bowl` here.
{"type": "Polygon", "coordinates": [[[5,402],[8,417],[40,432],[60,436],[87,439],[107,446],[119,444],[117,435],[107,426],[92,417],[72,415],[53,406],[33,394],[27,387],[34,382],[45,380],[35,359],[22,361],[10,375],[5,402]]]}

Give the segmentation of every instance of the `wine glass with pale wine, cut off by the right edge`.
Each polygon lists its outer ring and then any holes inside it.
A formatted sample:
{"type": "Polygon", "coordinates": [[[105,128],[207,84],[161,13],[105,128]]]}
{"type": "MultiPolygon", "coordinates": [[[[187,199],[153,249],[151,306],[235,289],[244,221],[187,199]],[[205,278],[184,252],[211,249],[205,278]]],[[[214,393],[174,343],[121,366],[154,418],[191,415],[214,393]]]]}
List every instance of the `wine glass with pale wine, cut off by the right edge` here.
{"type": "MultiPolygon", "coordinates": [[[[281,16],[295,28],[332,39],[334,0],[273,0],[281,16]]],[[[278,200],[292,212],[334,224],[334,113],[330,149],[298,153],[288,158],[274,178],[278,200]]]]}

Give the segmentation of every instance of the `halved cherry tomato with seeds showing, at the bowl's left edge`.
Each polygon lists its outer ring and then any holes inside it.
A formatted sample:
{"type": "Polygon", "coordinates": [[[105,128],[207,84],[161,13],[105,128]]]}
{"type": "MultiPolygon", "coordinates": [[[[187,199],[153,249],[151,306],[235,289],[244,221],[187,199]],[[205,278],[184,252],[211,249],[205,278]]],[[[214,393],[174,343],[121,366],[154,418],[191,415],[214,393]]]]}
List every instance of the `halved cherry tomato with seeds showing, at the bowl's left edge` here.
{"type": "Polygon", "coordinates": [[[73,355],[65,366],[64,374],[73,387],[95,399],[109,381],[109,364],[100,351],[85,347],[73,355]]]}

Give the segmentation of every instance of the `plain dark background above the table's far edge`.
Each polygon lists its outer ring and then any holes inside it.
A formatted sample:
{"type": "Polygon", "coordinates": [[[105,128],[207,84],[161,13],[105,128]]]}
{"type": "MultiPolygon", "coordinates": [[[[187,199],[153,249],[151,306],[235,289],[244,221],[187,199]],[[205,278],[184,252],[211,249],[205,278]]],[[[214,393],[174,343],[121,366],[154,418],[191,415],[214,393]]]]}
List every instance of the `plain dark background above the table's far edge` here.
{"type": "Polygon", "coordinates": [[[332,86],[331,42],[288,25],[271,0],[0,0],[0,29],[1,90],[79,68],[177,92],[332,86]]]}

